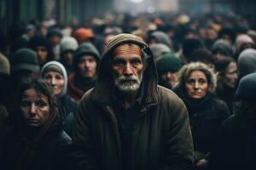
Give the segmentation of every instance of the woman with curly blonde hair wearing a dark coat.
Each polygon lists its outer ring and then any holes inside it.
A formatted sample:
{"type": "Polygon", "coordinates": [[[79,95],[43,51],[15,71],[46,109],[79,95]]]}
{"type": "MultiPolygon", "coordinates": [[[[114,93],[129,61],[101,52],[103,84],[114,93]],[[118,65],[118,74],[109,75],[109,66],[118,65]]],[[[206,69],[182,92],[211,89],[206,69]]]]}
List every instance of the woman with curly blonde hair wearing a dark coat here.
{"type": "Polygon", "coordinates": [[[213,97],[216,77],[213,69],[201,62],[184,65],[174,91],[189,111],[195,147],[195,169],[207,168],[216,144],[220,125],[230,115],[224,101],[213,97]]]}

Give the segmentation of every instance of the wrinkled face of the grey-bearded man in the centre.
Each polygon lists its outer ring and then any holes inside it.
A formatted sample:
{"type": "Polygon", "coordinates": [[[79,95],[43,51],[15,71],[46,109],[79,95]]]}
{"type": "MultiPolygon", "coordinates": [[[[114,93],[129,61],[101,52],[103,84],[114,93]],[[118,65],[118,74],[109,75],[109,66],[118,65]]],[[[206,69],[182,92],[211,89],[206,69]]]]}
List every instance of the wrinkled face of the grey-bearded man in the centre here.
{"type": "Polygon", "coordinates": [[[136,92],[143,79],[141,48],[135,44],[123,44],[113,51],[113,79],[121,92],[136,92]]]}

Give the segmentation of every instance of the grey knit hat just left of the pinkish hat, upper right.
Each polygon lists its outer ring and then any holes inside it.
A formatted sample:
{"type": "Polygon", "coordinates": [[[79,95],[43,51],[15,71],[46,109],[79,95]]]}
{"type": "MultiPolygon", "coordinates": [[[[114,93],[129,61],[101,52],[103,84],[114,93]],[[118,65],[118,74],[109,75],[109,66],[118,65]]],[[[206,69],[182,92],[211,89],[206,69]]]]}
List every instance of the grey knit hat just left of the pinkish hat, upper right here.
{"type": "Polygon", "coordinates": [[[216,50],[222,50],[227,56],[233,56],[233,49],[229,42],[224,39],[218,39],[212,45],[212,53],[216,50]]]}

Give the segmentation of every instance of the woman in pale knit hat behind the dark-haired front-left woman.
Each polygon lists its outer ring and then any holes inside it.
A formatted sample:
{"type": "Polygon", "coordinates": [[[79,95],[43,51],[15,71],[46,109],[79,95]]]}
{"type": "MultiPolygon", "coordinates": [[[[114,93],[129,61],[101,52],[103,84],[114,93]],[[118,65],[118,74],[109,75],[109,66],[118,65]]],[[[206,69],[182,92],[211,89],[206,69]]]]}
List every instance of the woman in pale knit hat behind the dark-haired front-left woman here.
{"type": "Polygon", "coordinates": [[[67,71],[58,61],[49,61],[41,70],[43,77],[54,89],[54,94],[58,104],[63,107],[66,112],[64,130],[72,137],[73,123],[75,112],[77,110],[77,102],[67,95],[67,71]]]}

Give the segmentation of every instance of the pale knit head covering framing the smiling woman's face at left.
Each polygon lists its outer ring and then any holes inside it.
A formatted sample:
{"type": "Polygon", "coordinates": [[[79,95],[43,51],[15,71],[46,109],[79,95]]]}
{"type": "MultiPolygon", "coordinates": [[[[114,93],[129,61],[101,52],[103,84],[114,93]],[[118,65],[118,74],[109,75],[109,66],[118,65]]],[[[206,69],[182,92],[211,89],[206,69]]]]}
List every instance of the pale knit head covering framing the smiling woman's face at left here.
{"type": "MultiPolygon", "coordinates": [[[[61,70],[61,74],[64,77],[64,86],[62,88],[61,94],[59,95],[59,96],[62,96],[63,94],[67,94],[67,71],[60,62],[49,61],[48,63],[46,63],[41,70],[41,77],[44,78],[44,74],[50,69],[50,66],[53,66],[53,65],[55,65],[61,70]]],[[[50,69],[50,71],[53,71],[53,70],[50,69]]]]}

